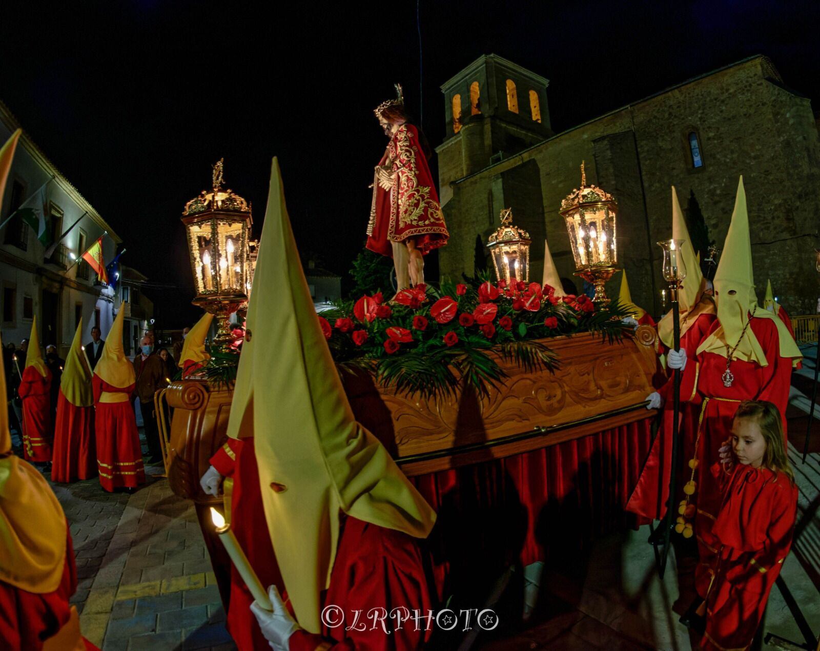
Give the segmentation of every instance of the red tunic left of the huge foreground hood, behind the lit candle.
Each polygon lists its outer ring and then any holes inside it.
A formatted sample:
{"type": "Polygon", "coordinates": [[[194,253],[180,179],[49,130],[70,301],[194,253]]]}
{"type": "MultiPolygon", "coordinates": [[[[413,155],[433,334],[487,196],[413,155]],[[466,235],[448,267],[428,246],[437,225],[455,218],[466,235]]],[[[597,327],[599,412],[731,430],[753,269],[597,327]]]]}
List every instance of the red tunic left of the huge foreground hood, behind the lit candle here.
{"type": "MultiPolygon", "coordinates": [[[[281,590],[282,577],[265,521],[253,438],[228,439],[211,458],[211,465],[220,475],[234,480],[230,498],[230,528],[239,546],[248,557],[248,562],[256,571],[262,585],[267,587],[276,584],[281,590]]],[[[269,648],[265,636],[259,630],[256,617],[253,617],[251,603],[253,596],[248,586],[236,568],[231,567],[227,629],[239,651],[269,648]]]]}

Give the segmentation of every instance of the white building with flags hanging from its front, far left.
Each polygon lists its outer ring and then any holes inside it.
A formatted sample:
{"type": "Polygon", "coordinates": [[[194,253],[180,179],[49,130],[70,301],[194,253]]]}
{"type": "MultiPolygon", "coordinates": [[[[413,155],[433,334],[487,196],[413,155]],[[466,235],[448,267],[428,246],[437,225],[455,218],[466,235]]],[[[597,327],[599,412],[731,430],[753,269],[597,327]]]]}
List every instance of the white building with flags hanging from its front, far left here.
{"type": "MultiPolygon", "coordinates": [[[[19,126],[0,102],[0,144],[19,126]]],[[[114,315],[112,290],[97,280],[88,263],[75,264],[75,260],[107,231],[103,258],[108,262],[121,239],[25,132],[17,143],[2,198],[0,224],[21,205],[43,211],[53,240],[79,222],[48,259],[44,257],[47,248],[19,216],[0,229],[3,343],[14,342],[19,347],[21,339],[28,339],[34,315],[40,343],[57,344],[61,355],[71,346],[80,316],[84,342],[90,341],[95,324],[105,339],[114,315]]]]}

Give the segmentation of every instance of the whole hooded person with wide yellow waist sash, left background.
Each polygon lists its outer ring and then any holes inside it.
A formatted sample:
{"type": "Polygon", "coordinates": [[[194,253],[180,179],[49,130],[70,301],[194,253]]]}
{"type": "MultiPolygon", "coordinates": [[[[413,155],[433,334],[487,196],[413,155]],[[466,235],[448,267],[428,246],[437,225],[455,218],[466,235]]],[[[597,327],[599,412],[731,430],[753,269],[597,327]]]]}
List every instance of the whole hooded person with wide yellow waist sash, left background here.
{"type": "Polygon", "coordinates": [[[111,493],[117,488],[134,489],[145,483],[139,431],[131,407],[134,366],[122,349],[124,306],[108,333],[103,354],[94,367],[92,380],[96,419],[97,466],[100,485],[111,493]]]}

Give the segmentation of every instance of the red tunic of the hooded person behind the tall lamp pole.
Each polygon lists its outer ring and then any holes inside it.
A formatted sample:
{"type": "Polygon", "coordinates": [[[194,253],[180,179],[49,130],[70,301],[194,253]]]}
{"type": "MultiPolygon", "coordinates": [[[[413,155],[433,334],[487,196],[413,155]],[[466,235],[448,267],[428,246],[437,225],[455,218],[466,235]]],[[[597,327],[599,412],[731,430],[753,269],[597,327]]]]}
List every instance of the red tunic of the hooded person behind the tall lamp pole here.
{"type": "MultiPolygon", "coordinates": [[[[698,357],[698,346],[717,319],[714,314],[701,314],[695,323],[681,335],[681,350],[686,351],[688,366],[695,366],[698,357]]],[[[663,344],[661,344],[663,346],[663,344]]],[[[665,348],[665,347],[663,347],[665,348]]],[[[669,498],[669,480],[672,474],[672,389],[674,381],[670,374],[667,382],[658,389],[663,398],[663,423],[655,436],[649,457],[644,469],[640,471],[635,490],[632,492],[626,510],[650,520],[659,520],[666,515],[666,503],[669,498]],[[661,489],[658,492],[658,488],[661,489]]],[[[689,480],[689,460],[695,453],[695,438],[698,434],[700,407],[695,403],[681,402],[678,434],[681,439],[680,464],[677,470],[677,484],[682,496],[683,485],[689,480]]]]}

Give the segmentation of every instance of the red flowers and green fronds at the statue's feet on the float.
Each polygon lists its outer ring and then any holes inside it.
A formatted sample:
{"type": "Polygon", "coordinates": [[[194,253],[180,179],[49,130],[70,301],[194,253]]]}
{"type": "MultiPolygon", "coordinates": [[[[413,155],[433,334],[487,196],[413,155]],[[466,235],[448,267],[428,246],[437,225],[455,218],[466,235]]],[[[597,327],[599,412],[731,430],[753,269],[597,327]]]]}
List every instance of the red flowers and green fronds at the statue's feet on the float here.
{"type": "Polygon", "coordinates": [[[373,372],[383,386],[408,394],[454,395],[462,379],[479,394],[503,380],[499,359],[527,370],[558,367],[546,339],[580,332],[602,340],[631,332],[617,301],[555,295],[549,285],[481,277],[471,284],[379,292],[337,303],[319,316],[330,352],[346,371],[373,372]]]}

